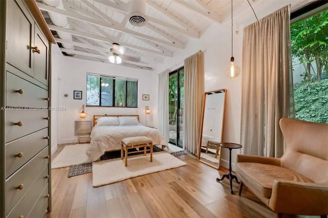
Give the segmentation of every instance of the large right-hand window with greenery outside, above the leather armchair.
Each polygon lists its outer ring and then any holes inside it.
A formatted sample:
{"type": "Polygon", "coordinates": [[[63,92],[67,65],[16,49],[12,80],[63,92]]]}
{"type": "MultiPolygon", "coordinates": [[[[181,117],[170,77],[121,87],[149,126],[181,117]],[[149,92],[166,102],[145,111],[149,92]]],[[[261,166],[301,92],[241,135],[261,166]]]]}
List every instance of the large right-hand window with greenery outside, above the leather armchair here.
{"type": "Polygon", "coordinates": [[[317,1],[291,14],[296,119],[328,123],[328,11],[317,1]]]}

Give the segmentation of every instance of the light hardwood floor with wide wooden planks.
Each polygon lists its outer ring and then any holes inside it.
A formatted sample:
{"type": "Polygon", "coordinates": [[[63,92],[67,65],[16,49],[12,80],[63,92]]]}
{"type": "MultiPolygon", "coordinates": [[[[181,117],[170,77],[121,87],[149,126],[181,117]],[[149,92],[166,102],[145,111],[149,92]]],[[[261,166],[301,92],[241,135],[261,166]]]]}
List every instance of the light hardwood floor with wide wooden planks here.
{"type": "MultiPolygon", "coordinates": [[[[59,146],[53,159],[62,148],[59,146]]],[[[68,178],[69,167],[52,169],[52,211],[45,218],[275,217],[247,187],[238,196],[236,182],[234,194],[228,179],[216,182],[227,168],[215,170],[192,155],[177,158],[187,166],[97,188],[92,187],[92,173],[68,178]]]]}

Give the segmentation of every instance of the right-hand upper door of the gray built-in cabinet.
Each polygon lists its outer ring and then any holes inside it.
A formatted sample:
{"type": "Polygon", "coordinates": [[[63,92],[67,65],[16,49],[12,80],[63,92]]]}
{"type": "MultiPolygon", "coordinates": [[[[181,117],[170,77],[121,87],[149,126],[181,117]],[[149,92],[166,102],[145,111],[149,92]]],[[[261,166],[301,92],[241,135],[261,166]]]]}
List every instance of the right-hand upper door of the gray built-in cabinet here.
{"type": "Polygon", "coordinates": [[[43,36],[39,28],[35,25],[34,46],[39,50],[34,53],[34,78],[38,81],[48,85],[48,55],[49,55],[49,42],[43,36]]]}

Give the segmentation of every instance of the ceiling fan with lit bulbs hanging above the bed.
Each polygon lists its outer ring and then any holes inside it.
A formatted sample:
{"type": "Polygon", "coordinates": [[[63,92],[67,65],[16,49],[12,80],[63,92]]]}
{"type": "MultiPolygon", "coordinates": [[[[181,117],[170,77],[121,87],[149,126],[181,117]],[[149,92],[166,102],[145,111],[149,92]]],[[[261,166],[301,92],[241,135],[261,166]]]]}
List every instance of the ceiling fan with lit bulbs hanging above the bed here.
{"type": "Polygon", "coordinates": [[[121,63],[122,60],[128,60],[128,61],[134,61],[139,62],[140,56],[132,55],[132,54],[126,54],[125,53],[126,48],[120,46],[118,43],[113,42],[112,48],[109,51],[109,61],[112,63],[121,63]]]}

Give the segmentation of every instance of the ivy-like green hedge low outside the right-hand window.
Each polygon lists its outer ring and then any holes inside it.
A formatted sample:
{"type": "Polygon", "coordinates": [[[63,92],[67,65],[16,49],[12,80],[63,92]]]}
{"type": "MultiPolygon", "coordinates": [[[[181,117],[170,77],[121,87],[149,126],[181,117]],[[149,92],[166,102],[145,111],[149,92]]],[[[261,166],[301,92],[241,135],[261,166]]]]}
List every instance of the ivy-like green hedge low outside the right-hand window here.
{"type": "Polygon", "coordinates": [[[328,79],[294,85],[296,119],[328,123],[328,79]]]}

